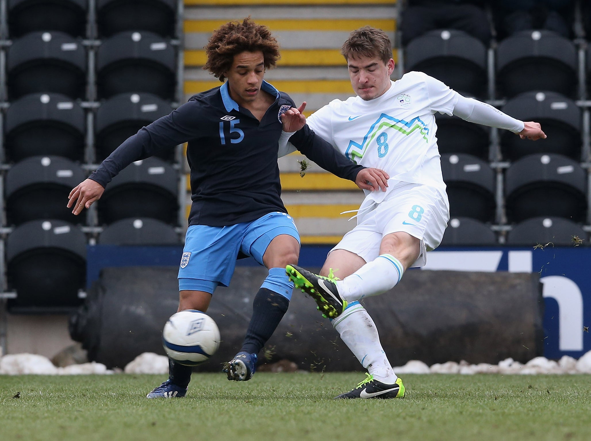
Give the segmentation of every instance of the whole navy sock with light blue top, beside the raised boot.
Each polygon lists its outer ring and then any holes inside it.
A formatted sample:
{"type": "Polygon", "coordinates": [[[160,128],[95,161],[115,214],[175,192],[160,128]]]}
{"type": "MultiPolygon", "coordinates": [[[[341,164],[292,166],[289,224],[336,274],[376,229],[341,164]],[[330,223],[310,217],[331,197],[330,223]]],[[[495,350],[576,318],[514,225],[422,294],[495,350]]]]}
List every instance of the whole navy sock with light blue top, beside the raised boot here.
{"type": "Polygon", "coordinates": [[[293,283],[284,268],[271,268],[252,302],[252,317],[241,351],[258,354],[290,305],[293,283]]]}

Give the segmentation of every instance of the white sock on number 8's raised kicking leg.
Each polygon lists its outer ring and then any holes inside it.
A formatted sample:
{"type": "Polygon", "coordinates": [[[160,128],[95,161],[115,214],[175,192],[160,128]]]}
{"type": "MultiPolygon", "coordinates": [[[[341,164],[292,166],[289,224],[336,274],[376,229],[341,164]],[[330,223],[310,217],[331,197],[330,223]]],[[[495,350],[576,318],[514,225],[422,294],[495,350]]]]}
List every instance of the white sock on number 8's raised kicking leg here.
{"type": "Polygon", "coordinates": [[[340,296],[348,302],[383,294],[394,288],[404,273],[400,260],[381,254],[352,275],[336,281],[340,296]]]}

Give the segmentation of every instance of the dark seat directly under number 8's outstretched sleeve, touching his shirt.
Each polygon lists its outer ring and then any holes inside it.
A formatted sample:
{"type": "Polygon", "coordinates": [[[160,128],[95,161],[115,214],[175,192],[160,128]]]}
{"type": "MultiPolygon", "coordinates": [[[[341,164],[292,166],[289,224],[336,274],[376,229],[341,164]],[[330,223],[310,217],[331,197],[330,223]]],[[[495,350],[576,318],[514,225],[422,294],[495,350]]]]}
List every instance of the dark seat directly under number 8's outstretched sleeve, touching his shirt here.
{"type": "Polygon", "coordinates": [[[464,153],[488,161],[490,129],[457,116],[435,114],[439,152],[464,153]]]}

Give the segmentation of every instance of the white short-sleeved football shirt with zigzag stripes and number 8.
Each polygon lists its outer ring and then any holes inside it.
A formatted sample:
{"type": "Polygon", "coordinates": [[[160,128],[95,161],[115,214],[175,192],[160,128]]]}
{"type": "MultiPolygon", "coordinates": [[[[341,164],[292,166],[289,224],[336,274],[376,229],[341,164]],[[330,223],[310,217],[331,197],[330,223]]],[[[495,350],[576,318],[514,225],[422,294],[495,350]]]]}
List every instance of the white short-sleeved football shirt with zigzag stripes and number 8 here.
{"type": "MultiPolygon", "coordinates": [[[[307,124],[347,158],[386,171],[388,189],[424,184],[447,200],[437,148],[436,112],[452,115],[458,94],[422,72],[409,72],[380,97],[333,100],[307,118],[307,124]]],[[[381,202],[388,193],[366,195],[381,202]]]]}

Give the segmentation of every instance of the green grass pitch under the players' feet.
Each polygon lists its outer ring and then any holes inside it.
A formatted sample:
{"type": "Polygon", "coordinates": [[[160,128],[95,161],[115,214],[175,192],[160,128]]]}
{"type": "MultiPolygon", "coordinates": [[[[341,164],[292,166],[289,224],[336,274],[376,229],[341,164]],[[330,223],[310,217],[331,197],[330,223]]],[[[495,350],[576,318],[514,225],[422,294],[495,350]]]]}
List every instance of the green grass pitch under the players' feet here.
{"type": "Polygon", "coordinates": [[[402,375],[404,400],[336,401],[362,373],[193,374],[147,400],[154,375],[0,375],[8,440],[588,440],[591,375],[402,375]],[[15,397],[20,392],[20,397],[15,397]]]}

